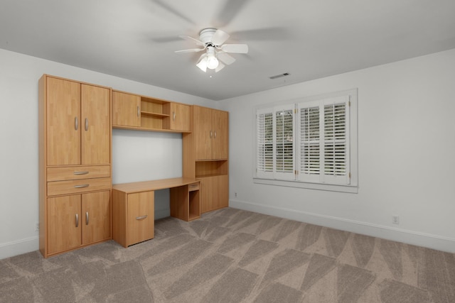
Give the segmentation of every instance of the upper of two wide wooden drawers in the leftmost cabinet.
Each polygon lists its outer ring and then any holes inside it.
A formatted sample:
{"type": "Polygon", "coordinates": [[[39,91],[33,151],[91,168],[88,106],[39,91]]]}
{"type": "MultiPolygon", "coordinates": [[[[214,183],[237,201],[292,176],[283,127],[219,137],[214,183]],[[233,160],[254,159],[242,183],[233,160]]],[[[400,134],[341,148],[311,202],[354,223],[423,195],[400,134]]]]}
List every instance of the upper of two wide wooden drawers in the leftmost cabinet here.
{"type": "Polygon", "coordinates": [[[48,182],[104,178],[111,176],[110,165],[48,167],[48,182]]]}

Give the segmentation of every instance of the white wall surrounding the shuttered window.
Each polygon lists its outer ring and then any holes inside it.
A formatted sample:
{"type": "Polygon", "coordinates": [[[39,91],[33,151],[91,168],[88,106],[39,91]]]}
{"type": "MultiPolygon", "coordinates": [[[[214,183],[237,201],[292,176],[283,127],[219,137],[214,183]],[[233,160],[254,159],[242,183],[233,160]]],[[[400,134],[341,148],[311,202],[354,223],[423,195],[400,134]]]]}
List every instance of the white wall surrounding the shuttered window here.
{"type": "Polygon", "coordinates": [[[230,206],[455,252],[455,50],[221,104],[230,111],[230,206]],[[253,183],[255,106],[353,88],[358,194],[253,183]]]}

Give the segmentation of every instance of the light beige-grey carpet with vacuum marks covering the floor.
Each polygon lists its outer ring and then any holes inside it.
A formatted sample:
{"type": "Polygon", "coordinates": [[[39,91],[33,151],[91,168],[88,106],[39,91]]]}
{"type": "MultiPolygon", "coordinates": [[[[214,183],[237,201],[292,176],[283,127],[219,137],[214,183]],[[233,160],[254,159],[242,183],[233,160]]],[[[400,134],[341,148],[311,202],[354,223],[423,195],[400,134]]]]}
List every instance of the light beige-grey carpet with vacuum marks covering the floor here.
{"type": "Polygon", "coordinates": [[[455,255],[238,209],[0,260],[0,302],[455,302],[455,255]]]}

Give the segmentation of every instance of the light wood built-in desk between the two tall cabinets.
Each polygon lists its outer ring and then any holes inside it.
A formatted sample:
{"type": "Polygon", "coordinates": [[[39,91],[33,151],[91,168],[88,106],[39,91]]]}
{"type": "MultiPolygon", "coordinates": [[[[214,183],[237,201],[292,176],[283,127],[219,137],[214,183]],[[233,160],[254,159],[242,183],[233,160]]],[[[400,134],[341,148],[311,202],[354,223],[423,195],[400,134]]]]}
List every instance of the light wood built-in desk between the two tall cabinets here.
{"type": "Polygon", "coordinates": [[[200,217],[199,181],[172,178],[112,185],[112,238],[124,247],[154,238],[154,192],[170,189],[171,216],[200,217]]]}

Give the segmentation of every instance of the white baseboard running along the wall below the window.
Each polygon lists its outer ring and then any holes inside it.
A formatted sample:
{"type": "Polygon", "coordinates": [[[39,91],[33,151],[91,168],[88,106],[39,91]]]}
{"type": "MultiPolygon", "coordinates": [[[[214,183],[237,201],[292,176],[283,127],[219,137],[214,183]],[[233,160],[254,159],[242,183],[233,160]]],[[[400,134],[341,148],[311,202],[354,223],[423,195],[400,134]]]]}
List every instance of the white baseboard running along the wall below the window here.
{"type": "Polygon", "coordinates": [[[235,209],[255,211],[260,214],[279,216],[285,219],[291,219],[295,221],[306,222],[309,224],[336,228],[343,231],[361,233],[367,236],[384,238],[391,241],[407,243],[415,246],[423,246],[435,250],[455,253],[455,238],[445,238],[429,233],[419,233],[416,231],[409,231],[400,228],[370,224],[368,222],[342,219],[333,216],[323,216],[320,214],[312,214],[305,211],[296,211],[294,209],[285,209],[277,206],[256,204],[234,199],[230,199],[229,206],[235,209]]]}

